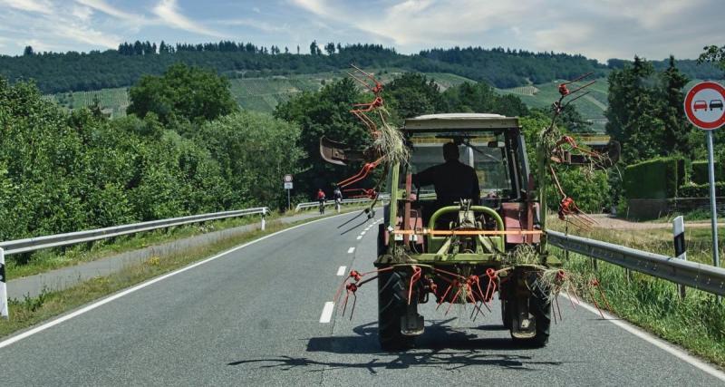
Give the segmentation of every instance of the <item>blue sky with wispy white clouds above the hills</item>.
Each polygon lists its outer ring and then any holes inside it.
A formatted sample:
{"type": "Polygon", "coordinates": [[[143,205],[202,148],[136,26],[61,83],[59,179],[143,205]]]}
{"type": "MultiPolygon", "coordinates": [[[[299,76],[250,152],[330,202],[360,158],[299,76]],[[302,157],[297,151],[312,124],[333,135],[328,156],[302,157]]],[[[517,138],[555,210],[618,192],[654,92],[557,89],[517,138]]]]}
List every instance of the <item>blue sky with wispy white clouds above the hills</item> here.
{"type": "Polygon", "coordinates": [[[507,47],[609,58],[697,58],[725,44],[723,0],[0,0],[0,54],[136,40],[252,42],[291,52],[372,43],[401,53],[507,47]]]}

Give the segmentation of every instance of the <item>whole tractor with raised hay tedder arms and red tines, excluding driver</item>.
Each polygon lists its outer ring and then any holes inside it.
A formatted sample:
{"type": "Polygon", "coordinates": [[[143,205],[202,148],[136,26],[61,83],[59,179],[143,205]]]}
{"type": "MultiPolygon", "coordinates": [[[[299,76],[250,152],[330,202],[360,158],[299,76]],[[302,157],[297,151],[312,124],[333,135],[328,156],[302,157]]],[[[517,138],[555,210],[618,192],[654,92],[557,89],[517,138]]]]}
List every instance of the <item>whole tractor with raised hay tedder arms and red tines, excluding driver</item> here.
{"type": "MultiPolygon", "coordinates": [[[[370,88],[376,94],[371,106],[382,105],[378,89],[382,86],[377,82],[370,88]]],[[[559,109],[568,94],[562,93],[559,109]]],[[[530,346],[546,344],[552,317],[556,319],[556,313],[552,315],[552,305],[558,309],[556,295],[563,291],[576,300],[582,287],[546,249],[546,218],[540,216],[546,213],[546,185],[536,181],[544,182],[551,174],[564,195],[559,216],[586,226],[593,220],[566,197],[551,164],[603,169],[618,154],[614,146],[608,156],[602,156],[579,151],[574,140],[555,139],[556,115],[551,127],[540,134],[536,179],[529,169],[518,119],[498,114],[424,115],[405,121],[400,130],[390,128],[382,114],[375,120],[362,119],[373,137],[371,148],[364,151],[321,140],[325,160],[363,162],[361,174],[378,164],[385,168],[384,182],[376,188],[390,192],[391,199],[383,207],[384,222],[378,230],[376,269],[353,270],[335,296],[352,313],[354,304],[349,308],[349,299],[361,285],[377,278],[378,334],[383,349],[411,347],[423,333],[420,304],[434,302],[445,314],[453,305],[467,305],[469,317],[475,320],[479,314],[492,312],[494,297],[500,300],[502,323],[514,340],[530,346]],[[398,137],[385,131],[395,131],[398,137]],[[441,148],[448,142],[458,147],[459,161],[475,170],[478,198],[442,200],[436,187],[415,184],[418,173],[443,162],[441,148]]]]}

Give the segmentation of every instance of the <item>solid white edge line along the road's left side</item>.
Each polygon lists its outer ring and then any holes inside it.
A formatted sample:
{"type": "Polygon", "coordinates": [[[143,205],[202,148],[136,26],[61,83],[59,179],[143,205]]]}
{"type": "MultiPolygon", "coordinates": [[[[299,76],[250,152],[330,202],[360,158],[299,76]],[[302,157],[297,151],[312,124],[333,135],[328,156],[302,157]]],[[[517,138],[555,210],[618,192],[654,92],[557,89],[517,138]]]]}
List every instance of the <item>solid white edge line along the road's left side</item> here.
{"type": "MultiPolygon", "coordinates": [[[[163,281],[166,278],[169,278],[169,276],[176,276],[179,273],[183,273],[183,272],[185,272],[187,270],[193,269],[194,267],[204,265],[204,264],[206,264],[208,262],[211,262],[211,261],[213,261],[215,259],[218,259],[218,258],[220,258],[222,256],[226,256],[227,254],[233,253],[233,252],[235,252],[235,251],[237,251],[239,249],[242,249],[244,247],[247,247],[249,245],[254,245],[255,243],[260,242],[262,240],[265,240],[266,238],[275,237],[275,235],[282,234],[282,233],[284,233],[286,231],[293,230],[293,229],[298,228],[298,227],[303,227],[303,226],[311,225],[313,223],[321,222],[321,221],[327,220],[327,219],[342,217],[344,215],[350,215],[350,214],[349,213],[346,213],[346,214],[340,214],[340,215],[333,215],[332,217],[327,217],[327,218],[315,219],[315,220],[312,220],[312,221],[303,223],[301,225],[297,225],[297,226],[285,228],[284,230],[276,231],[276,232],[274,232],[272,234],[269,234],[269,235],[266,235],[264,237],[256,238],[255,240],[249,241],[249,242],[245,243],[244,245],[240,245],[240,246],[237,246],[237,247],[232,247],[232,248],[228,249],[227,251],[224,251],[222,253],[219,253],[216,256],[212,256],[212,257],[209,257],[207,259],[204,259],[203,261],[198,261],[195,264],[191,264],[189,266],[182,267],[179,270],[172,271],[169,274],[166,274],[166,275],[163,275],[163,276],[158,276],[156,278],[150,279],[149,281],[144,282],[144,283],[142,283],[140,285],[135,285],[135,286],[130,287],[130,288],[124,290],[124,291],[121,291],[121,293],[117,293],[115,295],[111,295],[111,296],[109,296],[107,298],[103,298],[102,300],[100,300],[98,302],[95,302],[95,303],[93,303],[91,305],[82,307],[81,309],[78,309],[77,311],[75,311],[73,313],[62,315],[62,316],[56,318],[55,320],[49,321],[49,322],[47,322],[45,324],[38,325],[38,326],[34,327],[33,329],[30,329],[28,331],[25,331],[22,334],[14,335],[13,337],[10,337],[9,339],[7,339],[7,340],[5,340],[3,342],[0,342],[0,348],[4,348],[4,347],[6,347],[6,346],[8,346],[8,345],[10,345],[12,343],[17,343],[17,342],[23,340],[26,337],[30,337],[30,336],[32,336],[34,334],[43,332],[44,330],[46,330],[48,328],[51,328],[51,327],[53,327],[53,326],[55,326],[57,324],[61,324],[61,323],[65,322],[65,321],[68,321],[68,320],[72,319],[73,317],[79,316],[79,315],[84,314],[86,312],[90,312],[93,309],[95,309],[95,308],[97,308],[97,307],[99,307],[101,305],[106,305],[106,304],[110,303],[113,300],[117,300],[117,299],[121,298],[124,295],[130,295],[131,293],[133,293],[133,292],[135,292],[137,290],[143,289],[146,286],[156,284],[157,282],[160,282],[160,281],[163,281]]],[[[330,303],[330,304],[333,304],[333,303],[330,303]]],[[[327,307],[327,305],[325,305],[325,307],[327,307]]]]}

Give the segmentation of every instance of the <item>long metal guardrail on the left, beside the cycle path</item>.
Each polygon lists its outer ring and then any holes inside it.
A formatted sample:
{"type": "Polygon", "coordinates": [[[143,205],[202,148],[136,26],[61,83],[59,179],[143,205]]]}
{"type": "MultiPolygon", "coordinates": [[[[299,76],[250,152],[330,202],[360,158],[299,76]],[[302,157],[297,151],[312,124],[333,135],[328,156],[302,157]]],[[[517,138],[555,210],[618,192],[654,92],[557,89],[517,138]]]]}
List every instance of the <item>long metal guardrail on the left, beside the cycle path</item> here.
{"type": "Polygon", "coordinates": [[[264,216],[269,212],[269,208],[247,208],[237,209],[234,211],[214,212],[209,214],[191,215],[189,217],[169,218],[160,220],[151,220],[149,222],[134,223],[130,225],[96,228],[86,231],[76,231],[66,234],[56,234],[46,237],[30,237],[26,239],[10,240],[0,242],[0,248],[5,255],[25,253],[28,251],[40,250],[49,247],[62,247],[77,243],[90,242],[92,240],[103,239],[107,237],[118,237],[126,234],[135,234],[143,231],[150,231],[158,228],[181,226],[189,223],[205,222],[208,220],[217,220],[224,218],[244,217],[247,215],[260,214],[263,217],[262,227],[264,227],[264,216]]]}

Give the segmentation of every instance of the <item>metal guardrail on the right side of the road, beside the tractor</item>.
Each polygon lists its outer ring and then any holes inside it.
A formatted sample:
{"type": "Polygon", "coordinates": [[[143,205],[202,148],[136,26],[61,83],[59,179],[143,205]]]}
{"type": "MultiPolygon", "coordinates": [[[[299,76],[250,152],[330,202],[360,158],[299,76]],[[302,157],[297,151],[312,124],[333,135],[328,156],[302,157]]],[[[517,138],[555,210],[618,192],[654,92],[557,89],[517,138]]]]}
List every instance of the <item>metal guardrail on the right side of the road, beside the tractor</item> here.
{"type": "Polygon", "coordinates": [[[725,295],[725,269],[720,267],[648,253],[585,237],[565,235],[557,231],[546,231],[546,236],[552,246],[714,295],[725,295]]]}

